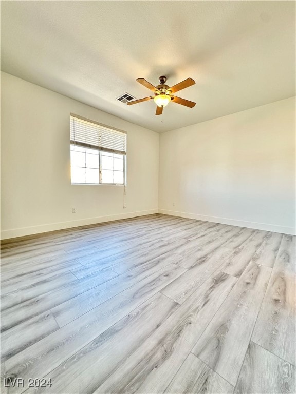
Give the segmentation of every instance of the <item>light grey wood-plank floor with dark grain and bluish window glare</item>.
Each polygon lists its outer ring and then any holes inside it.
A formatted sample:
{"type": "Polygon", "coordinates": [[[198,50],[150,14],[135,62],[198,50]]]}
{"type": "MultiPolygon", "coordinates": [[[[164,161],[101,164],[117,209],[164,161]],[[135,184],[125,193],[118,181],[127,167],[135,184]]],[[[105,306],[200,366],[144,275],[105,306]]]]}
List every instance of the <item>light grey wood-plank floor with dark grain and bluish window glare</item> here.
{"type": "Polygon", "coordinates": [[[62,230],[4,242],[1,286],[1,392],[296,392],[291,235],[161,214],[62,230]]]}

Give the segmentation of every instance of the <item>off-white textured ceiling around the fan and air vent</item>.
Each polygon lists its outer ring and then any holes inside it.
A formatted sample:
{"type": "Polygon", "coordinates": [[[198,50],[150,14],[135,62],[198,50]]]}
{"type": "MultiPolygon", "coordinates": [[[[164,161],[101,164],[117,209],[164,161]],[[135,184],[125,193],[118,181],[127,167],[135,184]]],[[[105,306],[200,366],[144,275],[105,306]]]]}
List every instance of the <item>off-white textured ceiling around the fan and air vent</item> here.
{"type": "Polygon", "coordinates": [[[3,71],[158,132],[295,95],[295,2],[2,1],[1,30],[3,71]],[[160,75],[196,106],[116,101],[160,75]]]}

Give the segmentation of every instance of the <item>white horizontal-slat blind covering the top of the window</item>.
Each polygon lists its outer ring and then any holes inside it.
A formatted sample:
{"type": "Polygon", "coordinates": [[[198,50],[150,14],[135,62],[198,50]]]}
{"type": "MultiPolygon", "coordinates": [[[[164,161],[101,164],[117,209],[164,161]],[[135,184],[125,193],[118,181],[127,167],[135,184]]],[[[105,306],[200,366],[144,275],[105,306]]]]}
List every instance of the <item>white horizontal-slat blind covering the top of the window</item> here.
{"type": "Polygon", "coordinates": [[[126,133],[70,114],[71,144],[105,152],[126,154],[126,133]]]}

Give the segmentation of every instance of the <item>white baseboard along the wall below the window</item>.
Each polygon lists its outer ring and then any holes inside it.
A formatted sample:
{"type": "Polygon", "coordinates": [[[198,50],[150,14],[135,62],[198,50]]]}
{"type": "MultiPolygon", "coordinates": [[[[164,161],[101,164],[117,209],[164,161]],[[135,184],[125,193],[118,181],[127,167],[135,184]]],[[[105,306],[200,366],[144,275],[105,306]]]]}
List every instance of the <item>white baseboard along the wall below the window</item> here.
{"type": "Polygon", "coordinates": [[[98,216],[98,218],[80,219],[80,220],[73,220],[69,222],[50,223],[50,224],[43,224],[40,226],[3,230],[1,231],[1,239],[6,240],[9,238],[24,237],[25,235],[40,234],[42,232],[62,230],[71,227],[80,227],[80,226],[87,226],[89,224],[113,222],[115,220],[136,218],[137,216],[152,215],[155,213],[158,213],[157,208],[150,209],[147,211],[126,212],[126,213],[119,213],[117,215],[98,216]]]}

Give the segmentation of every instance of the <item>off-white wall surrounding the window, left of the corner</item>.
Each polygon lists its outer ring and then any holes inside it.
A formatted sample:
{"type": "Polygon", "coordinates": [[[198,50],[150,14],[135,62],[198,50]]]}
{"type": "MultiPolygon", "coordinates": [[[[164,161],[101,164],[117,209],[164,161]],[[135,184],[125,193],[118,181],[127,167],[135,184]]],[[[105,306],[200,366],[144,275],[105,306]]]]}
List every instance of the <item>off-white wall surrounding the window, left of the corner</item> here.
{"type": "Polygon", "coordinates": [[[1,78],[2,238],[157,212],[158,133],[12,75],[1,78]],[[127,132],[126,209],[123,186],[70,184],[70,112],[127,132]]]}

